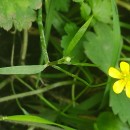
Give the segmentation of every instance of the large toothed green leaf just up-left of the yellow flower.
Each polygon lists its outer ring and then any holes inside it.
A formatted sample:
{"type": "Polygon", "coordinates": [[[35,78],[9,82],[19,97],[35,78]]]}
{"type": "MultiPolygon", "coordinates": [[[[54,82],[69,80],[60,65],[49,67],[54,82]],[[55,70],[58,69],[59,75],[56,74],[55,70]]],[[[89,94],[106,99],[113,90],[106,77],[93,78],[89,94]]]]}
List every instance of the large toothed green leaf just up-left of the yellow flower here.
{"type": "Polygon", "coordinates": [[[107,73],[113,56],[113,31],[110,26],[97,23],[93,32],[86,33],[85,54],[103,72],[107,73]]]}

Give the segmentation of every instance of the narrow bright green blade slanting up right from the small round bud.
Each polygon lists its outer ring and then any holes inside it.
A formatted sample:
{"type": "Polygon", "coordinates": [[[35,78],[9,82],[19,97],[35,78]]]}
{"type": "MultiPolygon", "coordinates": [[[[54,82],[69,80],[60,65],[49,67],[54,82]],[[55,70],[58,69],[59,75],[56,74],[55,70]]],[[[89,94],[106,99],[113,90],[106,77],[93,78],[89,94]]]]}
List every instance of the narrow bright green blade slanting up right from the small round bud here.
{"type": "Polygon", "coordinates": [[[78,32],[75,34],[73,39],[68,45],[68,48],[65,50],[64,54],[65,56],[69,55],[69,53],[74,49],[76,44],[79,42],[81,37],[84,35],[85,31],[87,30],[88,26],[90,25],[92,21],[93,16],[91,16],[88,21],[78,30],[78,32]]]}

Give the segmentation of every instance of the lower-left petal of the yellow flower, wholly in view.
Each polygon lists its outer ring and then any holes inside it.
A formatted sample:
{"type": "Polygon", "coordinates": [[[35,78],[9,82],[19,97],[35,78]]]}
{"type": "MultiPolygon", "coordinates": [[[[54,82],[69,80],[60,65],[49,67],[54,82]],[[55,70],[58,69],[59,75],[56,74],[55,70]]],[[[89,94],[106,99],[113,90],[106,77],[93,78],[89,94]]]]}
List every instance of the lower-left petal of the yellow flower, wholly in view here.
{"type": "Polygon", "coordinates": [[[117,94],[121,93],[125,87],[126,82],[124,80],[118,80],[113,85],[113,91],[117,94]]]}

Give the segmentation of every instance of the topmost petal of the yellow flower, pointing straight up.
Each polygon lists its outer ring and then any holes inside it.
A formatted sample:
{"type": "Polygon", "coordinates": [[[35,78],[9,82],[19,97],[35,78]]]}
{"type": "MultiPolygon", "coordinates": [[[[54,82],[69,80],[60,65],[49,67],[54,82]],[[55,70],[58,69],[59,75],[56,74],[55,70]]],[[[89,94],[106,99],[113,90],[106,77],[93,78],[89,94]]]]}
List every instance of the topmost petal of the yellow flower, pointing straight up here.
{"type": "Polygon", "coordinates": [[[130,65],[127,62],[122,61],[120,63],[120,69],[123,72],[123,74],[129,74],[130,65]]]}

